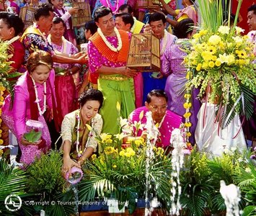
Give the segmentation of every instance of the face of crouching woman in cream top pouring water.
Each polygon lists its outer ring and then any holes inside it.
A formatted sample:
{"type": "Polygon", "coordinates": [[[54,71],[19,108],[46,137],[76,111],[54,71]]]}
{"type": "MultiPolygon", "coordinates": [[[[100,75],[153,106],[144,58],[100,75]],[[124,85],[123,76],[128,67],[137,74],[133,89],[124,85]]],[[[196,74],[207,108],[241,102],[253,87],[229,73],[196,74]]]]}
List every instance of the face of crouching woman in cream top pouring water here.
{"type": "Polygon", "coordinates": [[[100,102],[87,101],[83,107],[81,107],[81,116],[84,122],[92,120],[92,118],[98,113],[100,108],[100,102]]]}

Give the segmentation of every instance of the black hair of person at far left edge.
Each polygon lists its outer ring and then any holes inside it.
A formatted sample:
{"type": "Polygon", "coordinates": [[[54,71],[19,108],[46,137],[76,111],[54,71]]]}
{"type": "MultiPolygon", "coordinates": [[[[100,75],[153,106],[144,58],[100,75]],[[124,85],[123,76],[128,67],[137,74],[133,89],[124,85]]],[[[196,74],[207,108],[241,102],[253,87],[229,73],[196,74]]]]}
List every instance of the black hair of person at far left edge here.
{"type": "Polygon", "coordinates": [[[3,19],[8,28],[14,28],[14,36],[17,36],[23,32],[25,25],[18,15],[8,12],[0,12],[0,19],[3,19]]]}

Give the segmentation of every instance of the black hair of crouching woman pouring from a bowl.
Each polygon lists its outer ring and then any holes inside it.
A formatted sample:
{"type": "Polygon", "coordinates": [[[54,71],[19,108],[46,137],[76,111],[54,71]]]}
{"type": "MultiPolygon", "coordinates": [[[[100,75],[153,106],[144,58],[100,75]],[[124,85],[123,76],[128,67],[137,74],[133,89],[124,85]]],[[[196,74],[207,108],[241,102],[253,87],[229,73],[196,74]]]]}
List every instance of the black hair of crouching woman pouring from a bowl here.
{"type": "Polygon", "coordinates": [[[88,101],[98,101],[100,102],[100,107],[102,107],[103,104],[103,94],[101,91],[97,89],[88,89],[87,91],[84,91],[81,96],[79,97],[79,104],[81,107],[84,106],[84,104],[88,101]]]}

